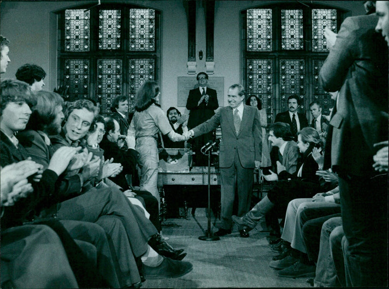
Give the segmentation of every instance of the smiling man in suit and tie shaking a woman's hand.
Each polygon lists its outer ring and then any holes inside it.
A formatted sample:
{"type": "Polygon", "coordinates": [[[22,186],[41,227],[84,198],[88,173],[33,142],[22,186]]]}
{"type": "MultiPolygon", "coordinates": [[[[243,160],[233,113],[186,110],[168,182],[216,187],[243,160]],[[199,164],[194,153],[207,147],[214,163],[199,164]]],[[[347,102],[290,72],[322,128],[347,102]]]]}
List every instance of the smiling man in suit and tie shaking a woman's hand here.
{"type": "MultiPolygon", "coordinates": [[[[245,100],[245,93],[242,85],[231,85],[228,90],[230,106],[220,108],[211,119],[196,126],[187,134],[187,136],[199,136],[221,126],[219,166],[222,224],[219,231],[215,233],[216,236],[231,233],[235,187],[238,190],[238,216],[248,212],[254,168],[258,169],[261,164],[261,121],[256,107],[242,103],[245,100]]],[[[243,228],[239,228],[239,231],[242,237],[249,237],[243,228]]]]}

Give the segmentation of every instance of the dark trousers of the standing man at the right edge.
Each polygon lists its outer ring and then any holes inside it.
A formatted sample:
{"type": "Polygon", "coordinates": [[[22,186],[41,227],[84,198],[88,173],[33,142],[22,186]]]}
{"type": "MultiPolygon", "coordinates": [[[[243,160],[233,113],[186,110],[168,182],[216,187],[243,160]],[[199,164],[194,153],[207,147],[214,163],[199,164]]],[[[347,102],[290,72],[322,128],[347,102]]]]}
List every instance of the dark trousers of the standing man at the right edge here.
{"type": "Polygon", "coordinates": [[[346,285],[388,286],[388,174],[339,174],[346,285]]]}

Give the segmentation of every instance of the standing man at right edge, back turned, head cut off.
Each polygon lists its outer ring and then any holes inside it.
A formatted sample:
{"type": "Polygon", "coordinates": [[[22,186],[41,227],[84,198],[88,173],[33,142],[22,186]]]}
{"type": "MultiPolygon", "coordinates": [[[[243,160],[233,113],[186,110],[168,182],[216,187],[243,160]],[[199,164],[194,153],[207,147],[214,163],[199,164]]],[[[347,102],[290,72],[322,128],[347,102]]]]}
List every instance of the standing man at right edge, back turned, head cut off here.
{"type": "Polygon", "coordinates": [[[372,167],[374,144],[388,140],[388,47],[377,21],[346,18],[319,77],[339,90],[327,147],[339,175],[346,283],[357,287],[388,285],[388,175],[372,167]]]}

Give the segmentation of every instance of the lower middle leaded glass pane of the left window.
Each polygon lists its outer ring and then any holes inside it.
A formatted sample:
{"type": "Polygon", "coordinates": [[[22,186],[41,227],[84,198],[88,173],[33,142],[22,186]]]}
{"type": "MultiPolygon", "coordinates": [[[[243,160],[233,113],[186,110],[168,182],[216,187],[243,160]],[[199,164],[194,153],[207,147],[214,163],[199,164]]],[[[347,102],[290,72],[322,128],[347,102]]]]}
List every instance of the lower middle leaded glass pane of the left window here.
{"type": "Polygon", "coordinates": [[[97,60],[97,97],[101,99],[101,113],[109,113],[111,102],[123,91],[123,64],[120,59],[97,60]]]}

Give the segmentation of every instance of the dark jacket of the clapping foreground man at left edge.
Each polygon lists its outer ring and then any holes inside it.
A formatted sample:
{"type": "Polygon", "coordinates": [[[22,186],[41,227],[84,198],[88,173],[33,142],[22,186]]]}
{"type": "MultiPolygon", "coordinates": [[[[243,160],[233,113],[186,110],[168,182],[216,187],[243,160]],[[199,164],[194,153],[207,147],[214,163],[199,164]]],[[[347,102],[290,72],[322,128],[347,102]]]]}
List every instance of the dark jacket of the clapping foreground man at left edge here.
{"type": "MultiPolygon", "coordinates": [[[[27,159],[28,153],[21,144],[18,148],[11,140],[0,132],[0,163],[5,167],[27,159]]],[[[26,198],[21,198],[13,206],[4,207],[4,215],[1,217],[1,229],[21,225],[24,221],[31,221],[39,212],[47,206],[55,204],[59,196],[55,193],[55,182],[58,176],[53,170],[44,170],[41,180],[31,182],[34,192],[26,198]]]]}

